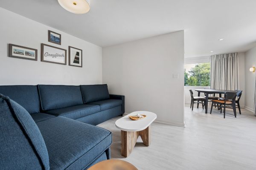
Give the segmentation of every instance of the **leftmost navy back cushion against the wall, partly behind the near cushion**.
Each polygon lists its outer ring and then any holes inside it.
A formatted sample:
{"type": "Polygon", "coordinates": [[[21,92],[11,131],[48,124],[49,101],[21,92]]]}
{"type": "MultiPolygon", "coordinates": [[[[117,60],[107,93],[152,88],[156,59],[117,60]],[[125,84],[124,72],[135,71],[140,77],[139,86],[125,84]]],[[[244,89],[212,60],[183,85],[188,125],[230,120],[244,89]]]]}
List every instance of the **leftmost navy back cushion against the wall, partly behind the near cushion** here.
{"type": "Polygon", "coordinates": [[[9,96],[30,114],[39,112],[38,90],[35,85],[1,85],[0,94],[9,96]]]}

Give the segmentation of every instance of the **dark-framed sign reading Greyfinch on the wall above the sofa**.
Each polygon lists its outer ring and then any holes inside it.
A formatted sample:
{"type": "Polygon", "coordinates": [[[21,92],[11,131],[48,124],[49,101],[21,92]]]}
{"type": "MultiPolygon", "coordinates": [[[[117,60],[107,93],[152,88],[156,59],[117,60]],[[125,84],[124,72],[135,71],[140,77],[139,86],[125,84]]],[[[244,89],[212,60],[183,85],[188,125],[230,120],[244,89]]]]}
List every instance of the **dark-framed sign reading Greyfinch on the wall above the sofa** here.
{"type": "Polygon", "coordinates": [[[41,61],[67,65],[67,50],[42,43],[41,61]]]}

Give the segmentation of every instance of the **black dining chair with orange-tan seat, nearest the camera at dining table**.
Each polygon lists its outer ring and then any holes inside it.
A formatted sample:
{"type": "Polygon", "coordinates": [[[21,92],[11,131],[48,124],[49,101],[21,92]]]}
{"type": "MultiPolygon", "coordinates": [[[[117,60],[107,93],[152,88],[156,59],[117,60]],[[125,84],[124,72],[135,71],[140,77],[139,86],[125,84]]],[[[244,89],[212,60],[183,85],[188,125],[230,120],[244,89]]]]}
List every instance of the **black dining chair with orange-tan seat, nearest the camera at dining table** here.
{"type": "MultiPolygon", "coordinates": [[[[212,107],[213,104],[217,104],[220,105],[221,108],[221,112],[222,112],[222,108],[224,108],[224,119],[225,119],[225,113],[226,113],[226,106],[230,106],[231,108],[233,108],[233,112],[235,114],[236,117],[236,93],[237,92],[226,92],[224,94],[224,97],[221,97],[219,100],[212,100],[212,107]]],[[[212,107],[211,107],[211,112],[210,114],[212,114],[212,107]]]]}

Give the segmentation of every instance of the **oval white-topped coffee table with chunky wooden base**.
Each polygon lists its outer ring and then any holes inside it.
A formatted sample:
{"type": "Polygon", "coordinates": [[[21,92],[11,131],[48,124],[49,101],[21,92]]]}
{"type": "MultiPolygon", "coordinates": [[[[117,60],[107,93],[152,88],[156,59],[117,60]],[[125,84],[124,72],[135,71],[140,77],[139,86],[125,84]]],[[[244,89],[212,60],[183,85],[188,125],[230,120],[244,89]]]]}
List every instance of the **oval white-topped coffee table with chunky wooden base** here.
{"type": "Polygon", "coordinates": [[[157,118],[157,115],[148,111],[132,112],[116,121],[116,127],[121,130],[121,155],[128,157],[133,150],[138,137],[140,136],[143,144],[150,145],[150,125],[157,118]],[[137,115],[138,113],[146,115],[140,120],[131,120],[129,116],[137,115]]]}

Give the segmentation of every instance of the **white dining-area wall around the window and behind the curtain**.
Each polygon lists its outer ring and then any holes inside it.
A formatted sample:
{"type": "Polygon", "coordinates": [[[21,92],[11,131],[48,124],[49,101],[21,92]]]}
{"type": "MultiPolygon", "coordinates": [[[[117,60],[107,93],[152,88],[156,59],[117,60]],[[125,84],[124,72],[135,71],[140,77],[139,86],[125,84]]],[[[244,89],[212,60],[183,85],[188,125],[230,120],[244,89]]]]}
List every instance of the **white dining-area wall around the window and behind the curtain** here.
{"type": "MultiPolygon", "coordinates": [[[[240,99],[240,106],[241,108],[244,108],[244,101],[245,101],[245,73],[244,73],[244,53],[238,53],[239,57],[239,82],[240,82],[240,89],[243,91],[241,99],[240,99]]],[[[195,64],[195,63],[202,63],[202,62],[211,62],[211,57],[195,57],[195,58],[185,58],[185,64],[195,64]]],[[[198,96],[198,93],[195,91],[195,89],[201,89],[201,88],[210,88],[210,87],[191,87],[191,86],[184,86],[184,100],[185,103],[190,103],[191,97],[189,93],[189,89],[192,89],[194,92],[194,96],[198,96]]],[[[201,94],[201,96],[204,96],[204,94],[201,94]]]]}

